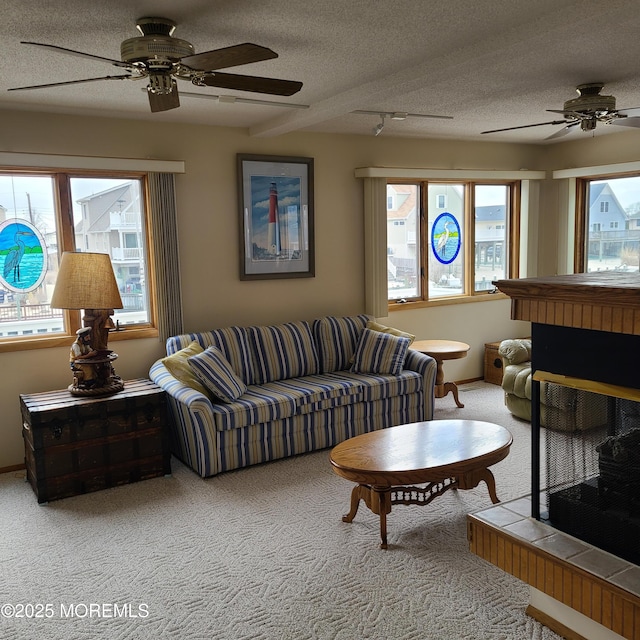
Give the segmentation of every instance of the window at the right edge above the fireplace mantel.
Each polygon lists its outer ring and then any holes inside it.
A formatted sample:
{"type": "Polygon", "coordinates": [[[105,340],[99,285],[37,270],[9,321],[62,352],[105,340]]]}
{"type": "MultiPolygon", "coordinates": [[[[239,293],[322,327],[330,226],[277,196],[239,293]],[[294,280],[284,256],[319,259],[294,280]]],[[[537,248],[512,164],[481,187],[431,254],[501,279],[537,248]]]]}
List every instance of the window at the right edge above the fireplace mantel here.
{"type": "Polygon", "coordinates": [[[576,185],[576,272],[637,272],[640,174],[585,178],[576,185]]]}

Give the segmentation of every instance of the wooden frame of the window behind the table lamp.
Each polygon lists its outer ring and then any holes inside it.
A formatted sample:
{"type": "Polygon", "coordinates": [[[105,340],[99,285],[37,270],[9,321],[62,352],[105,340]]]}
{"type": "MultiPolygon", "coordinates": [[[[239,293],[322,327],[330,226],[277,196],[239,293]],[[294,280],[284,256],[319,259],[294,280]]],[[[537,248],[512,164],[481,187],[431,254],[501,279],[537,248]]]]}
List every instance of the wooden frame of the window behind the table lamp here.
{"type": "MultiPolygon", "coordinates": [[[[56,214],[56,231],[58,237],[58,260],[64,251],[75,250],[75,232],[73,219],[73,201],[71,195],[71,180],[73,178],[103,178],[139,180],[141,197],[144,203],[144,235],[145,235],[145,267],[148,270],[148,316],[149,321],[121,327],[109,335],[110,342],[132,340],[139,338],[158,337],[158,317],[156,305],[156,269],[151,244],[151,208],[148,171],[114,170],[114,169],[84,169],[39,166],[0,166],[3,175],[16,176],[48,176],[53,183],[53,197],[56,214]]],[[[0,353],[23,351],[31,349],[53,348],[68,346],[70,340],[75,339],[75,331],[82,326],[82,311],[63,309],[65,330],[50,335],[20,335],[0,338],[0,353]]]]}

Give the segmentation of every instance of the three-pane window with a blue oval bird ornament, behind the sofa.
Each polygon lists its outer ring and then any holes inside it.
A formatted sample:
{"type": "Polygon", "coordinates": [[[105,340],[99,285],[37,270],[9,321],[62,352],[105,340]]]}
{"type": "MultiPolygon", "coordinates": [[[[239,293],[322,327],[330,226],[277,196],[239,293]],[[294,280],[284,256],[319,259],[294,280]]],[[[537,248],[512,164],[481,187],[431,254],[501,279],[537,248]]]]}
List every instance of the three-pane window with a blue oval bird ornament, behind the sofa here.
{"type": "Polygon", "coordinates": [[[515,182],[387,182],[388,300],[472,296],[516,277],[508,257],[518,195],[515,182]]]}

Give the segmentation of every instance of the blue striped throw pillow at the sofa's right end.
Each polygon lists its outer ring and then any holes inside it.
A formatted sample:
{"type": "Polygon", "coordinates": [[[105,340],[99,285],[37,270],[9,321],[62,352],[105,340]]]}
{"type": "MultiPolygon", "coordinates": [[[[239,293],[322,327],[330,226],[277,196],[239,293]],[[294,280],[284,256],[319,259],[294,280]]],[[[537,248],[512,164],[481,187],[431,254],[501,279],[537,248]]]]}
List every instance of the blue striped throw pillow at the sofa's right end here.
{"type": "Polygon", "coordinates": [[[409,338],[363,329],[351,365],[354,373],[398,375],[404,368],[409,338]]]}

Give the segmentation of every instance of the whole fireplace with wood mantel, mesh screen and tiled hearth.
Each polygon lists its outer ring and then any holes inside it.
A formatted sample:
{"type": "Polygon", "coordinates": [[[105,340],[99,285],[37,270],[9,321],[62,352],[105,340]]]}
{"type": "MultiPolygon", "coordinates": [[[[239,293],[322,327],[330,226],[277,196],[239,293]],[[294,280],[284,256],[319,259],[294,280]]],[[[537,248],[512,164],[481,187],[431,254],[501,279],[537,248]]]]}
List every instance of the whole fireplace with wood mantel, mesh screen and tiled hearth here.
{"type": "MultiPolygon", "coordinates": [[[[495,514],[471,514],[470,548],[531,585],[528,612],[561,635],[587,637],[573,630],[595,622],[615,637],[638,640],[640,275],[574,274],[494,284],[511,297],[511,317],[531,322],[530,516],[513,522],[519,502],[513,510],[506,505],[495,514]],[[575,419],[554,423],[542,415],[541,394],[573,397],[575,419]],[[500,525],[505,519],[509,524],[500,525]],[[559,554],[549,551],[557,538],[559,554]],[[584,563],[563,555],[585,545],[593,552],[583,553],[598,555],[611,572],[585,571],[584,563]],[[621,573],[610,576],[615,571],[621,573]]],[[[591,631],[588,637],[603,637],[591,631]]]]}

